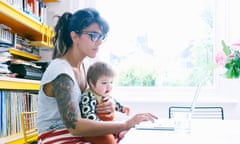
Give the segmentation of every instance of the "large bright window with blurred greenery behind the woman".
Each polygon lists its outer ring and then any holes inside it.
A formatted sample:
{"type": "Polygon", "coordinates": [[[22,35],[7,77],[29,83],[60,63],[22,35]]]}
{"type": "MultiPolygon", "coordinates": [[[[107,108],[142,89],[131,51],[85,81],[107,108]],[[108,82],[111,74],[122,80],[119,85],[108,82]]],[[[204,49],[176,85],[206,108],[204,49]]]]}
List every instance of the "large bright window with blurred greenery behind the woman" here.
{"type": "Polygon", "coordinates": [[[214,85],[216,0],[105,0],[110,24],[99,56],[117,71],[117,86],[214,85]]]}

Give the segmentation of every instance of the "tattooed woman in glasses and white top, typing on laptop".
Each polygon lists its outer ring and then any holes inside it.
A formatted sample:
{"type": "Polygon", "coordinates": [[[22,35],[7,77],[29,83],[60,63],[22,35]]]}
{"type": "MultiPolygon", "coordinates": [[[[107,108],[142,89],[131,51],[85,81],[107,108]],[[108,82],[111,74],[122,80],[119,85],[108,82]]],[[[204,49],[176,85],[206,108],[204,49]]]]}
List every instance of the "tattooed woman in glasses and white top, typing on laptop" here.
{"type": "MultiPolygon", "coordinates": [[[[125,122],[98,122],[81,118],[78,103],[87,87],[84,59],[94,58],[108,33],[108,24],[90,8],[64,13],[55,27],[53,60],[46,69],[38,97],[39,143],[81,143],[82,136],[119,134],[142,121],[153,121],[140,113],[125,122]]],[[[97,107],[97,113],[114,112],[111,100],[97,107]]],[[[122,138],[122,136],[120,136],[122,138]]]]}

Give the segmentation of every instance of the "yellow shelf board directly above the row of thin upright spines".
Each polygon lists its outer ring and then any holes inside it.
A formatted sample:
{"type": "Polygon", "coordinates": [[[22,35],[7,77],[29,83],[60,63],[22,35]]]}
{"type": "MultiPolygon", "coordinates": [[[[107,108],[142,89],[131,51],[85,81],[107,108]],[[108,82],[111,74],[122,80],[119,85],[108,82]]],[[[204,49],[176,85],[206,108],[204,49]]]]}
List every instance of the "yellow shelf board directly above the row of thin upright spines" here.
{"type": "Polygon", "coordinates": [[[10,77],[0,77],[0,89],[2,90],[39,90],[40,82],[10,77]]]}

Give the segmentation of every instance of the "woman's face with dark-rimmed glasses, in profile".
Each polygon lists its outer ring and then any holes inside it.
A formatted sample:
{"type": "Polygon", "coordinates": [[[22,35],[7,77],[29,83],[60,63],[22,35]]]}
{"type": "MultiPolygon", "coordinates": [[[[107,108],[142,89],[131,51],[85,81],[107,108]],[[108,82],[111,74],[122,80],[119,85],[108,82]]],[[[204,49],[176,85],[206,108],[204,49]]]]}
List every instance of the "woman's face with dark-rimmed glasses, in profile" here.
{"type": "Polygon", "coordinates": [[[90,58],[96,57],[99,46],[102,44],[102,32],[99,25],[94,23],[85,28],[82,32],[79,39],[75,41],[77,49],[81,51],[83,56],[88,56],[90,58]]]}

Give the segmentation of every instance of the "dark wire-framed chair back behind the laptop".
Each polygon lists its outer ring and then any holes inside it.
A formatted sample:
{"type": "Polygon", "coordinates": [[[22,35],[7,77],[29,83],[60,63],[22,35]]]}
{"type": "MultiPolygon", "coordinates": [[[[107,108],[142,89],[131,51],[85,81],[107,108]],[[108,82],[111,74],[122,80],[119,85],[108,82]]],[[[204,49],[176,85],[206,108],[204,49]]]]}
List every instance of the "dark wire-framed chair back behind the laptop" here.
{"type": "MultiPolygon", "coordinates": [[[[169,119],[174,117],[174,113],[190,112],[191,107],[185,106],[170,106],[168,110],[169,119]]],[[[222,119],[224,120],[223,107],[215,106],[198,106],[195,107],[192,113],[193,119],[222,119]]]]}

